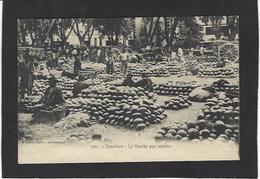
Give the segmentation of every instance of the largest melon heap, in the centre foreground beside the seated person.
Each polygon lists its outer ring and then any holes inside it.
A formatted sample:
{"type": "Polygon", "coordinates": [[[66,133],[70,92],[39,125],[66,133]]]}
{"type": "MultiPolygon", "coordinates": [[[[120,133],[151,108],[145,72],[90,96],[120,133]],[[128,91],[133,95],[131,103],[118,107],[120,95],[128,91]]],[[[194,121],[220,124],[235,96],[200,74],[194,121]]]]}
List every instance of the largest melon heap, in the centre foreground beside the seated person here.
{"type": "Polygon", "coordinates": [[[79,98],[67,100],[70,111],[83,111],[91,120],[142,130],[166,118],[164,110],[154,105],[154,94],[143,88],[91,86],[79,98]]]}

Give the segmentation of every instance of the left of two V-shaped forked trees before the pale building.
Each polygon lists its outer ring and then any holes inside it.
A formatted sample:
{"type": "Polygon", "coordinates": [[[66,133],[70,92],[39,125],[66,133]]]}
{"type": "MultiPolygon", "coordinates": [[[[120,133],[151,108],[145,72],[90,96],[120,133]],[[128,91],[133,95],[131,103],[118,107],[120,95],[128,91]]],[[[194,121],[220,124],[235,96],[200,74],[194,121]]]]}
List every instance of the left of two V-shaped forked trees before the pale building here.
{"type": "Polygon", "coordinates": [[[66,44],[74,23],[72,19],[55,19],[54,25],[53,25],[53,33],[56,34],[63,45],[66,44]]]}

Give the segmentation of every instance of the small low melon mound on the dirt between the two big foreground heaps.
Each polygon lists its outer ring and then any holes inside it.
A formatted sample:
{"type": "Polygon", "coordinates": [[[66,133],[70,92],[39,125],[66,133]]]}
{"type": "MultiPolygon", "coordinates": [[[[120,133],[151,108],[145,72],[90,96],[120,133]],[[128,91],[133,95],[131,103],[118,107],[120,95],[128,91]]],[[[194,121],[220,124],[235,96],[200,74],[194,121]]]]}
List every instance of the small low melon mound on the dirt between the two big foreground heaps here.
{"type": "Polygon", "coordinates": [[[165,101],[165,104],[162,106],[164,109],[179,110],[183,108],[188,108],[192,102],[188,99],[187,96],[174,96],[173,98],[165,101]]]}

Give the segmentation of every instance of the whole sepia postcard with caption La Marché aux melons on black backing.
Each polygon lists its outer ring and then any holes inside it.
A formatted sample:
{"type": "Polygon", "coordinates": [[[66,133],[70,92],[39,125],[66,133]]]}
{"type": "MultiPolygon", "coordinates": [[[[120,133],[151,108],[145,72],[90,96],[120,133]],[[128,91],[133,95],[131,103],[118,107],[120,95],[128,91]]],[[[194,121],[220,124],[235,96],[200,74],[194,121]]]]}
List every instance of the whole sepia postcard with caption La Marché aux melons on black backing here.
{"type": "Polygon", "coordinates": [[[240,160],[239,16],[17,19],[18,163],[240,160]]]}

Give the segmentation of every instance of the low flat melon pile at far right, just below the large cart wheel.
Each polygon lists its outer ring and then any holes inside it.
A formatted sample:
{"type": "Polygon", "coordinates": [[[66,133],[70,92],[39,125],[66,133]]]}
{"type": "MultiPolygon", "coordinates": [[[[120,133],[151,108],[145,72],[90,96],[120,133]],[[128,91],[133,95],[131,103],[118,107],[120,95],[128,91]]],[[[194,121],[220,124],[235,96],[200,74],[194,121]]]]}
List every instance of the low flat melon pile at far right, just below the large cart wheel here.
{"type": "Polygon", "coordinates": [[[201,69],[198,76],[202,78],[235,78],[236,74],[231,68],[206,68],[201,69]]]}

